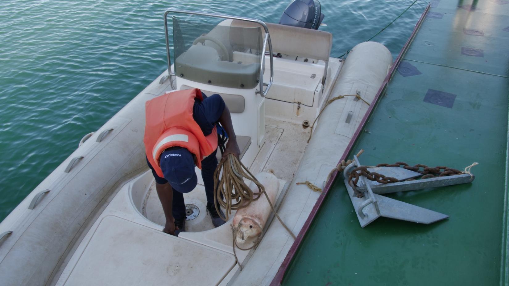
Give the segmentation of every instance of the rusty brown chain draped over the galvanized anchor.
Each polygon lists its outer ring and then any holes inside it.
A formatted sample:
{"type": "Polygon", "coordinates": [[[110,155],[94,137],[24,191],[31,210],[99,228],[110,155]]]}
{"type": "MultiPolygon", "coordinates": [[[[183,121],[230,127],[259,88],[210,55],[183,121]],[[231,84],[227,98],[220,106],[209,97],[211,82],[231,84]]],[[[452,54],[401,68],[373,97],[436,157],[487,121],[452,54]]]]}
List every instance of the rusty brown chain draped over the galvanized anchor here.
{"type": "MultiPolygon", "coordinates": [[[[443,176],[450,176],[450,175],[458,175],[458,174],[464,174],[464,172],[460,170],[456,170],[453,168],[445,167],[445,166],[437,166],[437,167],[428,167],[426,165],[422,164],[416,164],[414,166],[409,166],[405,162],[396,162],[395,164],[378,164],[375,167],[403,167],[404,169],[411,170],[417,173],[421,173],[422,176],[420,179],[428,179],[433,177],[443,177],[443,176]],[[422,168],[422,170],[421,170],[422,168]],[[442,171],[443,170],[443,171],[442,171]]],[[[367,166],[360,166],[355,169],[353,169],[350,173],[350,176],[348,177],[348,184],[352,186],[357,193],[358,198],[362,198],[362,194],[356,190],[357,188],[357,182],[359,181],[360,176],[364,176],[366,179],[371,181],[377,181],[381,184],[387,184],[387,183],[397,183],[400,180],[393,178],[393,177],[387,177],[382,174],[379,174],[377,172],[370,172],[367,170],[367,166]],[[357,171],[360,171],[360,173],[357,173],[357,171]]],[[[407,179],[405,181],[413,181],[414,178],[407,179]]]]}

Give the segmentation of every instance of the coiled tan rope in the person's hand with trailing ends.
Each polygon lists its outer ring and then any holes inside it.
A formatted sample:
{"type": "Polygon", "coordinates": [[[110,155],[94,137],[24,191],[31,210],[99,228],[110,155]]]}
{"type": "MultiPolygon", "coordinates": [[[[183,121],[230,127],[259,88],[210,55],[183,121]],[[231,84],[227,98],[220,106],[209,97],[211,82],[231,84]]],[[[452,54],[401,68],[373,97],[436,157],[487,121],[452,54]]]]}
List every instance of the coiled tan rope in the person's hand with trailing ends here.
{"type": "MultiPolygon", "coordinates": [[[[254,177],[251,172],[240,162],[237,157],[233,154],[227,154],[225,157],[221,159],[219,164],[217,165],[216,170],[214,171],[214,205],[216,207],[216,211],[221,216],[221,212],[218,209],[218,206],[224,208],[224,216],[221,218],[225,221],[228,221],[229,215],[232,214],[232,210],[238,210],[241,208],[247,207],[252,201],[256,201],[260,198],[260,196],[265,195],[267,202],[270,205],[270,208],[274,212],[274,215],[277,217],[279,222],[285,229],[290,233],[290,235],[295,239],[295,235],[292,231],[283,223],[279,215],[277,214],[272,202],[269,199],[269,196],[265,193],[265,187],[254,177]],[[222,177],[221,177],[222,171],[222,177]],[[244,178],[248,179],[255,183],[258,187],[258,192],[253,192],[249,186],[244,182],[244,178]],[[222,195],[222,198],[221,198],[222,195]],[[235,202],[234,202],[235,201],[235,202]]],[[[240,266],[242,270],[242,266],[240,265],[237,255],[235,253],[235,246],[239,247],[235,241],[235,234],[238,230],[238,226],[232,226],[233,232],[233,251],[235,255],[235,260],[240,266]]],[[[254,245],[249,248],[240,248],[242,250],[248,250],[256,247],[260,241],[261,236],[258,237],[256,241],[254,241],[254,245]]]]}

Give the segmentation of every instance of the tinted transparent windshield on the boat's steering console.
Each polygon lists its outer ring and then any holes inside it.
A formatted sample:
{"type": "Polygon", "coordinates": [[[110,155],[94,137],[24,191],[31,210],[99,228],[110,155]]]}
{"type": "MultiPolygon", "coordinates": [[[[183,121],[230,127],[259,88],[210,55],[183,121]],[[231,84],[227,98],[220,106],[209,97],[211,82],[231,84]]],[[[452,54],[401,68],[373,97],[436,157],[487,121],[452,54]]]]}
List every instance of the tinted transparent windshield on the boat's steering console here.
{"type": "Polygon", "coordinates": [[[173,17],[177,77],[223,87],[256,87],[264,54],[262,29],[249,24],[228,19],[213,25],[173,17]]]}

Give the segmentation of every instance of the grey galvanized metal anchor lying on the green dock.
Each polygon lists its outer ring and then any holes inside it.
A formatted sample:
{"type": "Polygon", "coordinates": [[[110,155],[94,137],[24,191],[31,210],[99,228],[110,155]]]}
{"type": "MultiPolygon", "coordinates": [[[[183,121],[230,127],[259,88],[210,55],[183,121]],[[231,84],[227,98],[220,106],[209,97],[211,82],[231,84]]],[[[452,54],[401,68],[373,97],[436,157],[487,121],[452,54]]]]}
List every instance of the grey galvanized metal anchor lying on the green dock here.
{"type": "Polygon", "coordinates": [[[345,168],[343,176],[345,177],[345,186],[347,187],[350,200],[352,201],[361,227],[369,225],[380,216],[413,221],[414,223],[426,225],[445,219],[449,217],[446,214],[390,199],[381,196],[381,194],[469,183],[475,178],[472,174],[457,174],[413,181],[402,181],[422,176],[422,174],[400,167],[371,167],[367,168],[369,172],[377,172],[387,177],[393,177],[400,180],[400,182],[381,184],[377,181],[368,180],[364,176],[360,176],[357,186],[351,186],[349,184],[350,173],[353,169],[360,166],[359,159],[354,155],[354,162],[345,168]],[[359,193],[363,195],[361,198],[357,197],[359,193]]]}

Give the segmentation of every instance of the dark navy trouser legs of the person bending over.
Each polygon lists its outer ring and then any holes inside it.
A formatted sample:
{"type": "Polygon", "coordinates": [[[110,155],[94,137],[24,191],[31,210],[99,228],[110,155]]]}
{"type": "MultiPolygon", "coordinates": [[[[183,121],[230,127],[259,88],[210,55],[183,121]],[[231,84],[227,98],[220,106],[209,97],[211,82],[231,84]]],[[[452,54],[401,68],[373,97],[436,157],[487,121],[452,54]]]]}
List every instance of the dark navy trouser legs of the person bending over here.
{"type": "MultiPolygon", "coordinates": [[[[202,178],[205,184],[207,204],[214,205],[214,171],[217,168],[217,149],[202,161],[202,178]]],[[[191,191],[192,192],[192,191],[191,191]]],[[[173,190],[173,217],[181,219],[186,216],[184,194],[173,190]]]]}

